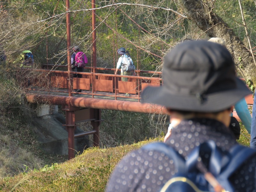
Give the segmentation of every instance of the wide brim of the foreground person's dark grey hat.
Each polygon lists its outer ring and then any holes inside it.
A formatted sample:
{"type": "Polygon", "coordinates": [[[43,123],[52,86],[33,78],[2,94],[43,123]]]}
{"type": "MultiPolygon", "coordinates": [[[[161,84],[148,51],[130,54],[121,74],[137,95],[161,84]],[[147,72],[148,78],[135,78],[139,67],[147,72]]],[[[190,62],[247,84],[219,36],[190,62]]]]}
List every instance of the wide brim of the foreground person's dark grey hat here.
{"type": "Polygon", "coordinates": [[[182,111],[217,112],[235,105],[245,96],[252,94],[239,78],[236,78],[236,85],[236,89],[206,95],[204,102],[201,102],[196,95],[173,94],[165,86],[148,86],[142,92],[141,101],[182,111]]]}

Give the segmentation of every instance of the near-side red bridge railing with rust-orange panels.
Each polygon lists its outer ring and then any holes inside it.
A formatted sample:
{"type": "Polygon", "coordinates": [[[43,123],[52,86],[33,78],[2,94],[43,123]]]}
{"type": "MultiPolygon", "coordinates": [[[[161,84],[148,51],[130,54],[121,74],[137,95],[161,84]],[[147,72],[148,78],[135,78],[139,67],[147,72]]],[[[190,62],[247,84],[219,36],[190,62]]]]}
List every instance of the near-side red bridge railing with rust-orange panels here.
{"type": "MultiPolygon", "coordinates": [[[[87,68],[88,69],[88,68],[87,68]]],[[[72,84],[73,90],[81,89],[82,95],[91,96],[92,98],[128,98],[125,93],[130,93],[131,99],[140,101],[140,93],[147,86],[161,86],[161,73],[153,71],[135,71],[137,75],[145,76],[124,76],[109,74],[115,69],[97,68],[97,70],[108,71],[106,73],[92,72],[73,72],[70,71],[72,81],[69,80],[68,71],[44,70],[44,69],[24,69],[33,70],[37,75],[30,77],[30,90],[48,91],[48,92],[68,92],[68,84],[72,84]],[[82,78],[75,78],[73,74],[81,74],[82,78]],[[128,81],[123,82],[121,77],[127,77],[128,81]]],[[[76,92],[72,92],[76,93],[76,92]]]]}

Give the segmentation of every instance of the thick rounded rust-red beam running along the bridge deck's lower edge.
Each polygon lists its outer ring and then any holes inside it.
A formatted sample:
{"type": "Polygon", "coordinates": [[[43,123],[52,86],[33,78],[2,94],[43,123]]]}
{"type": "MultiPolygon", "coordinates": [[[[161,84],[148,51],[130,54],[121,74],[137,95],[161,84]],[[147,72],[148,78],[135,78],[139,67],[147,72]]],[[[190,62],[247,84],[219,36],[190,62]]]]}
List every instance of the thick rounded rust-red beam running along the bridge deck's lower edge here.
{"type": "Polygon", "coordinates": [[[93,99],[83,97],[68,97],[59,95],[36,95],[27,94],[27,99],[31,103],[49,103],[55,105],[71,105],[73,107],[111,109],[120,111],[130,111],[150,114],[167,114],[166,108],[149,103],[139,103],[132,101],[93,99]]]}

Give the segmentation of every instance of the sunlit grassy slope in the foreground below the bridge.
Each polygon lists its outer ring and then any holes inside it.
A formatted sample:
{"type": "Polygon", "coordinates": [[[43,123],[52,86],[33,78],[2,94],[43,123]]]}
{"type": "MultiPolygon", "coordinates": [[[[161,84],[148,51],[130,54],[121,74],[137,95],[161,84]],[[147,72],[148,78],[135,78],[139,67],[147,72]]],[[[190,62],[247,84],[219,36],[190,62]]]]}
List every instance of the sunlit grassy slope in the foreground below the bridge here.
{"type": "MultiPolygon", "coordinates": [[[[250,135],[242,125],[239,143],[249,146],[250,135]]],[[[90,148],[62,164],[52,164],[40,170],[31,170],[0,181],[1,191],[104,191],[108,177],[119,160],[131,150],[148,142],[163,140],[150,139],[115,148],[90,148]]]]}

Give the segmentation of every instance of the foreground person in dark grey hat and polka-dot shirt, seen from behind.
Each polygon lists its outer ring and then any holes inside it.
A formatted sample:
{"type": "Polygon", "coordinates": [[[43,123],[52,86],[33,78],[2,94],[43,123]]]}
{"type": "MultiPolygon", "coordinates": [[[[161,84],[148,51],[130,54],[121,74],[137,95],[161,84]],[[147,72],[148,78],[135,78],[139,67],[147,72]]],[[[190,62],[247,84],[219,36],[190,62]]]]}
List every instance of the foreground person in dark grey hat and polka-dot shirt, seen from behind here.
{"type": "Polygon", "coordinates": [[[205,40],[181,43],[164,57],[162,78],[141,101],[165,106],[177,126],[165,143],[126,155],[106,192],[256,191],[256,150],[237,144],[228,129],[232,107],[251,94],[230,52],[205,40]]]}

